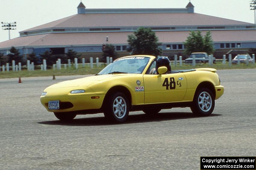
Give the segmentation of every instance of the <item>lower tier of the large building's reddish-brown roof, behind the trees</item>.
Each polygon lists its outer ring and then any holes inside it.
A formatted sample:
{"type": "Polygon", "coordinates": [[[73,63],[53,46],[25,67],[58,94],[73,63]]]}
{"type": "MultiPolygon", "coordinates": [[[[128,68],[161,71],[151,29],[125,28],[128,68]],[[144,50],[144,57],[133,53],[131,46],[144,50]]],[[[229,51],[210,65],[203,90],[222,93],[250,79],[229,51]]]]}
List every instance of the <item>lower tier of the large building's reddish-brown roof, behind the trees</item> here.
{"type": "MultiPolygon", "coordinates": [[[[158,31],[156,36],[161,43],[183,43],[190,31],[158,31]]],[[[206,31],[202,31],[205,34],[206,31]]],[[[11,46],[26,48],[40,48],[47,46],[93,46],[105,43],[127,44],[130,32],[100,32],[100,33],[51,33],[17,37],[0,43],[0,49],[9,49],[11,46]]],[[[213,41],[216,42],[255,42],[256,30],[219,30],[211,31],[213,41]]]]}

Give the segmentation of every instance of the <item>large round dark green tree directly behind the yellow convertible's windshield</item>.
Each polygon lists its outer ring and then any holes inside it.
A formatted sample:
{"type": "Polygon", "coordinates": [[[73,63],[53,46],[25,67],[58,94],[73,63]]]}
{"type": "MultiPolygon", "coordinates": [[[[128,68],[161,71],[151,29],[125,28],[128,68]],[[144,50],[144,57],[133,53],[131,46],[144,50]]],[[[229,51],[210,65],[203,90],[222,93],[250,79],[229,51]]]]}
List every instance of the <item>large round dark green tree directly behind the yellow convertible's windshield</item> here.
{"type": "Polygon", "coordinates": [[[158,37],[150,28],[140,27],[133,34],[128,35],[129,48],[127,51],[133,55],[146,54],[146,55],[159,55],[162,49],[159,47],[161,43],[158,42],[158,37]]]}

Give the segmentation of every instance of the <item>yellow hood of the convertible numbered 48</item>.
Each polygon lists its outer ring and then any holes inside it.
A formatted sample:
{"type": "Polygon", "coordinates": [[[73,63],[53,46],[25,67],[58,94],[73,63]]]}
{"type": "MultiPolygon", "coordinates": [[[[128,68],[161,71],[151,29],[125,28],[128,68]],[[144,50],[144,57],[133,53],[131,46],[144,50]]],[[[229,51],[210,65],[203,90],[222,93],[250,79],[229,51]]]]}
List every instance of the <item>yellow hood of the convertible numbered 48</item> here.
{"type": "Polygon", "coordinates": [[[59,82],[54,85],[49,86],[48,88],[62,88],[62,87],[77,87],[77,86],[89,86],[95,82],[102,81],[104,79],[113,77],[113,76],[124,76],[127,74],[105,74],[97,76],[89,76],[80,79],[68,80],[64,82],[59,82]]]}

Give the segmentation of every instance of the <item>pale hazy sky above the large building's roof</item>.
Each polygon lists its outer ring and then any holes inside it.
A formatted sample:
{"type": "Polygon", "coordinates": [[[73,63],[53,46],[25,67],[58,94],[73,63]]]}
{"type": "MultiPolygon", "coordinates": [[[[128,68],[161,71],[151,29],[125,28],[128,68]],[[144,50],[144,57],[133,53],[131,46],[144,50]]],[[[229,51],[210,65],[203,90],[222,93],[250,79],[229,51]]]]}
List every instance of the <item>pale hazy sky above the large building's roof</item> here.
{"type": "MultiPolygon", "coordinates": [[[[189,0],[83,0],[86,8],[184,8],[189,0]]],[[[77,13],[80,0],[0,0],[0,22],[17,22],[11,39],[19,31],[77,13]]],[[[254,23],[248,0],[191,0],[195,13],[254,23]]],[[[150,24],[149,24],[150,25],[150,24]]],[[[0,30],[0,42],[8,40],[8,30],[0,30]]]]}

